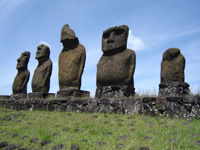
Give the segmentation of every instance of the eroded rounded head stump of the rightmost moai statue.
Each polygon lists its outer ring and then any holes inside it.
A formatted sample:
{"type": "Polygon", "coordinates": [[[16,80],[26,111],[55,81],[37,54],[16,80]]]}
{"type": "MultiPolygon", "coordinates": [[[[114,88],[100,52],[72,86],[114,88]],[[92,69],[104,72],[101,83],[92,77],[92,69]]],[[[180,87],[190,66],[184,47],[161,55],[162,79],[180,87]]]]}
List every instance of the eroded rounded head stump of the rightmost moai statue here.
{"type": "Polygon", "coordinates": [[[180,49],[178,48],[169,48],[163,54],[163,60],[173,60],[180,54],[180,49]]]}

